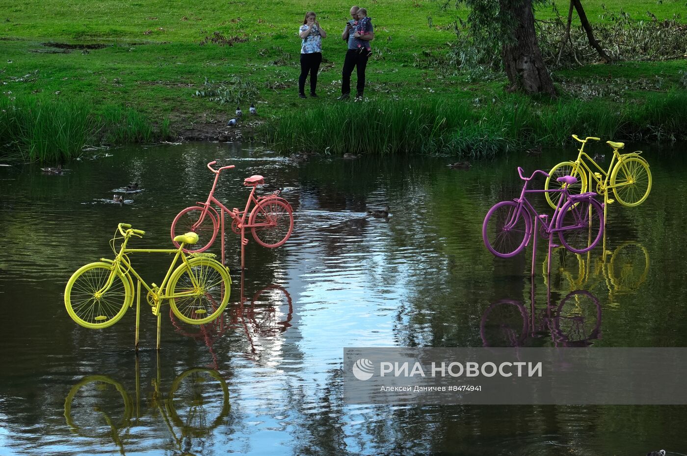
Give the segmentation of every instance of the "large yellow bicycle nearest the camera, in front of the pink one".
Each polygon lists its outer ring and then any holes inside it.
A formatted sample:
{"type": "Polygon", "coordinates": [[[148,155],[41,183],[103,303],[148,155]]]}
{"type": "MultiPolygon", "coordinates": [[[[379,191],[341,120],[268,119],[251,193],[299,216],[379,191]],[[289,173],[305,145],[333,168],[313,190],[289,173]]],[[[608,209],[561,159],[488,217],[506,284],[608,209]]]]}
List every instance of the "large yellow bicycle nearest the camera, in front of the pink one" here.
{"type": "Polygon", "coordinates": [[[229,269],[216,261],[214,254],[190,254],[183,252],[185,245],[198,241],[198,235],[188,232],[174,237],[179,243],[176,249],[131,249],[126,247],[132,236],[143,237],[143,230],[134,230],[129,224],[117,225],[117,232],[110,241],[114,260],[100,259],[80,267],[67,282],[65,307],[69,316],[86,328],[107,328],[118,322],[133,306],[135,295],[133,278],[148,290],[146,299],[159,315],[161,303],[169,300],[170,307],[179,320],[190,324],[205,324],[218,317],[229,302],[232,279],[229,269]],[[121,235],[117,236],[117,232],[121,235]],[[123,239],[119,252],[117,239],[123,239]],[[174,259],[161,285],[148,285],[133,269],[128,254],[135,252],[174,253],[174,259]],[[181,264],[174,269],[181,258],[181,264]],[[133,276],[133,278],[132,278],[133,276]]]}

